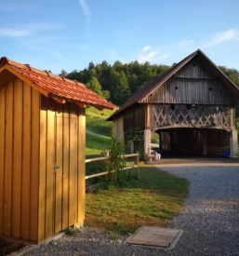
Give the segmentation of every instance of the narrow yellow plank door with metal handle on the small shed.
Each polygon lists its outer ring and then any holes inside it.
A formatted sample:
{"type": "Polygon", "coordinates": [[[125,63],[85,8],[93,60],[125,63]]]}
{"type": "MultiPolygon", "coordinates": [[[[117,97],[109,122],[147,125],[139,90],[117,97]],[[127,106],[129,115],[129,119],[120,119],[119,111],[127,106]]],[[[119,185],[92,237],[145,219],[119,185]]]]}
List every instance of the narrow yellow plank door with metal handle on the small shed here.
{"type": "Polygon", "coordinates": [[[77,174],[76,118],[55,116],[53,234],[75,223],[77,174]]]}

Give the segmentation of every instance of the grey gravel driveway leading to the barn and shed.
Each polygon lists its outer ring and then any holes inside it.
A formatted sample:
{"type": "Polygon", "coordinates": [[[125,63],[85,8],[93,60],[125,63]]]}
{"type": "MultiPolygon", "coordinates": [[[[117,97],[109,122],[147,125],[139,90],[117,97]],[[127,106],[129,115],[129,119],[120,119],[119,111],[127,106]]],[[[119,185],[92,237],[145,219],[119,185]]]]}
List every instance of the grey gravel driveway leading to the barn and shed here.
{"type": "Polygon", "coordinates": [[[175,249],[127,246],[126,237],[84,228],[25,255],[239,255],[239,164],[161,168],[191,181],[186,209],[169,224],[184,232],[175,249]]]}

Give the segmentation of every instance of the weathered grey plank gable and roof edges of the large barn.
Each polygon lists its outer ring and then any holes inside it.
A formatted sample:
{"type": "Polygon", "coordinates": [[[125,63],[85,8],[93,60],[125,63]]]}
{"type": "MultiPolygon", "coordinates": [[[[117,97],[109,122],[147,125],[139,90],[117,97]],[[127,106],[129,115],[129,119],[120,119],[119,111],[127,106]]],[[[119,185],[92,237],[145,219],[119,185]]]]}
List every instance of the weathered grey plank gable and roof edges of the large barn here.
{"type": "Polygon", "coordinates": [[[210,61],[198,49],[182,61],[179,61],[178,64],[166,71],[165,74],[160,75],[146,87],[141,88],[119,110],[114,112],[108,118],[108,121],[112,121],[115,116],[124,112],[137,102],[181,102],[188,104],[202,103],[234,106],[239,103],[238,99],[239,88],[219,70],[216,64],[210,61]],[[175,84],[176,82],[178,84],[175,84]],[[198,86],[199,84],[201,85],[200,87],[198,86]],[[165,91],[162,94],[164,89],[165,91]],[[159,97],[157,97],[158,95],[159,97]]]}

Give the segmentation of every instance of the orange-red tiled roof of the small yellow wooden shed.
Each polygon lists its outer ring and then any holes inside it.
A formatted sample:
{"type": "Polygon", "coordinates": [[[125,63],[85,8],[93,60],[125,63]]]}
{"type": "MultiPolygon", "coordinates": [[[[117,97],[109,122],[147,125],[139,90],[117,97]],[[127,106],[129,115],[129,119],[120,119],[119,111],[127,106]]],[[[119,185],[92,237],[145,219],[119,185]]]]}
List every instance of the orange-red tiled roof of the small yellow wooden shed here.
{"type": "Polygon", "coordinates": [[[38,89],[45,96],[61,103],[73,101],[80,106],[88,104],[100,110],[105,108],[118,109],[113,103],[101,98],[82,83],[66,79],[60,75],[50,74],[47,71],[35,69],[29,64],[10,61],[7,57],[3,57],[0,60],[0,74],[6,74],[6,70],[20,77],[21,80],[38,89]]]}

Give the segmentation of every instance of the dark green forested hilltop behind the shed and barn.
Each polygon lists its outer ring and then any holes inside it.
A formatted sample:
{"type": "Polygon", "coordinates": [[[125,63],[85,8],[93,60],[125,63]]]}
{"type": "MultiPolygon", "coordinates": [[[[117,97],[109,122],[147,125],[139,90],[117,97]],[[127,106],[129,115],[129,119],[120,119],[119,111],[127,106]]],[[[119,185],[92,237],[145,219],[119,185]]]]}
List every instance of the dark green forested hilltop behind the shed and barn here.
{"type": "MultiPolygon", "coordinates": [[[[172,66],[175,64],[173,63],[172,66]]],[[[130,63],[115,61],[113,65],[107,61],[102,61],[100,64],[91,61],[84,70],[74,70],[69,74],[62,70],[61,75],[84,83],[87,88],[94,90],[101,97],[121,106],[131,95],[165,73],[170,67],[149,62],[141,64],[138,61],[130,63]]],[[[238,70],[226,66],[219,66],[219,69],[239,87],[238,70]]]]}

